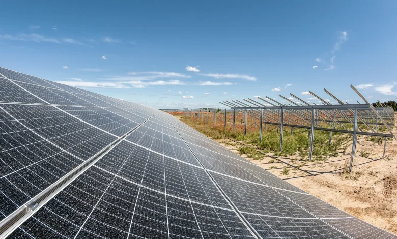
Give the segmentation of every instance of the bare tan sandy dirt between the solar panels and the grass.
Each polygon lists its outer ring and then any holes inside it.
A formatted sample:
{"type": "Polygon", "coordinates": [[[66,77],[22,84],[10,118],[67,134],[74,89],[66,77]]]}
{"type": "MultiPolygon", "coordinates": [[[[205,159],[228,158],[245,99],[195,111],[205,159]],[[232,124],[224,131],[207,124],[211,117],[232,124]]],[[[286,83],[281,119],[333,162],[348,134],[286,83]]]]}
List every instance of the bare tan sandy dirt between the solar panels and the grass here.
{"type": "MultiPolygon", "coordinates": [[[[396,125],[393,127],[395,135],[396,125]]],[[[346,172],[351,159],[351,144],[336,157],[314,162],[299,160],[298,155],[274,157],[268,153],[261,160],[242,156],[341,210],[396,234],[397,143],[387,140],[386,155],[382,159],[384,138],[381,145],[366,139],[358,138],[360,143],[356,147],[352,173],[346,172]]],[[[235,153],[242,146],[229,139],[215,141],[235,153]]]]}

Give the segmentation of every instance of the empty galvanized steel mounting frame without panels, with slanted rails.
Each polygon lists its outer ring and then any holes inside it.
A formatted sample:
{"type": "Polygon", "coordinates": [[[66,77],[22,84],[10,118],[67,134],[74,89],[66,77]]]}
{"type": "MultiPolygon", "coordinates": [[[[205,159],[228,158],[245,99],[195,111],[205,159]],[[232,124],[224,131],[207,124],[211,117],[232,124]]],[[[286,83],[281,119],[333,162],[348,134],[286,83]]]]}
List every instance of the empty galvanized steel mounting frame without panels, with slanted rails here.
{"type": "MultiPolygon", "coordinates": [[[[397,138],[391,131],[391,126],[394,125],[394,111],[392,108],[385,107],[382,104],[379,104],[380,107],[374,108],[353,86],[350,85],[353,91],[365,102],[364,104],[348,104],[336,98],[329,91],[324,89],[324,92],[331,96],[338,104],[331,104],[329,100],[324,100],[320,98],[315,93],[308,91],[308,94],[314,96],[315,99],[319,99],[322,105],[318,105],[313,103],[310,105],[308,102],[300,99],[296,95],[290,93],[292,97],[286,98],[284,96],[279,95],[284,102],[288,102],[287,104],[282,104],[270,97],[265,97],[265,99],[258,97],[258,99],[264,101],[262,104],[258,101],[254,101],[250,98],[243,99],[244,103],[239,100],[223,101],[219,102],[225,106],[230,107],[230,121],[232,123],[233,119],[233,131],[236,128],[236,116],[240,117],[241,112],[241,124],[243,124],[244,119],[244,134],[247,133],[247,116],[251,117],[251,120],[258,119],[259,120],[259,143],[262,141],[262,125],[265,124],[265,129],[267,128],[267,124],[276,125],[277,132],[280,127],[280,148],[279,151],[282,152],[282,143],[283,143],[283,132],[284,127],[291,128],[291,134],[293,134],[294,128],[303,128],[308,129],[308,140],[310,142],[309,148],[309,158],[311,161],[313,155],[313,144],[314,144],[314,131],[328,131],[329,132],[329,144],[332,141],[332,132],[344,133],[344,134],[352,134],[353,135],[353,143],[352,143],[352,154],[349,165],[349,172],[352,171],[354,153],[356,150],[357,144],[357,135],[365,135],[365,136],[376,136],[376,137],[384,137],[384,149],[383,149],[383,158],[385,156],[386,151],[386,141],[387,138],[397,138]],[[298,102],[292,101],[292,99],[298,100],[298,102]],[[302,104],[303,103],[303,104],[302,104]],[[237,115],[236,115],[237,110],[237,115]],[[348,129],[349,127],[345,127],[345,123],[352,125],[352,130],[348,129]],[[379,130],[386,130],[387,132],[378,132],[379,130]]],[[[209,117],[213,117],[214,126],[216,126],[216,116],[217,109],[206,108],[206,121],[207,124],[210,124],[209,117]]],[[[204,110],[203,108],[199,109],[184,109],[183,115],[187,117],[195,117],[204,120],[204,110]]],[[[228,118],[228,110],[224,109],[224,128],[227,128],[227,118],[228,118]]],[[[255,121],[255,127],[256,121],[255,121]]]]}

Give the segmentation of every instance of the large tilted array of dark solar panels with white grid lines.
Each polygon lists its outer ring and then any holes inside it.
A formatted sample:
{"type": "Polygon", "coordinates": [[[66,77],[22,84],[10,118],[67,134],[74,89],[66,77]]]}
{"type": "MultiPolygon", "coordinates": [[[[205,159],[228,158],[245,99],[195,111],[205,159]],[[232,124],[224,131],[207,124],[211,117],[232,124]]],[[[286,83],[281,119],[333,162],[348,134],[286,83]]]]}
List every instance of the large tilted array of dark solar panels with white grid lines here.
{"type": "Polygon", "coordinates": [[[397,238],[159,110],[0,68],[0,237],[397,238]]]}

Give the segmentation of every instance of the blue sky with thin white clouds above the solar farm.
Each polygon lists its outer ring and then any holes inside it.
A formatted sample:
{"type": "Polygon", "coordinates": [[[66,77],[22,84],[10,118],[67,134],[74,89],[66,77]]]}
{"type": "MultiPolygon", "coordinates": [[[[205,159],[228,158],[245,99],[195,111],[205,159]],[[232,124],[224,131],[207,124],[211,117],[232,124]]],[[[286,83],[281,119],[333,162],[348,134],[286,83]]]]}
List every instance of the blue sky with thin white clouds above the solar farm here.
{"type": "Polygon", "coordinates": [[[156,108],[396,100],[396,1],[2,2],[0,66],[156,108]]]}

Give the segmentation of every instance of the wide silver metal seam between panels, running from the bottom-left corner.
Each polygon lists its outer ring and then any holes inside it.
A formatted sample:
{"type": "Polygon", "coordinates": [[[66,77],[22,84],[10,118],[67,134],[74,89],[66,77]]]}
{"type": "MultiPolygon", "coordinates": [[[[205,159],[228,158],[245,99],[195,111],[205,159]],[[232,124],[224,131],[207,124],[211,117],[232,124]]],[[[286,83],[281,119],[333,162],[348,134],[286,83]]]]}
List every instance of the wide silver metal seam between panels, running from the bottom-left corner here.
{"type": "Polygon", "coordinates": [[[42,191],[40,194],[33,197],[29,202],[19,207],[14,213],[10,214],[0,223],[0,238],[5,238],[10,235],[20,224],[22,224],[26,219],[28,219],[34,212],[36,212],[41,206],[43,206],[48,200],[58,194],[62,189],[69,185],[75,178],[80,174],[90,168],[95,162],[106,155],[113,147],[118,145],[123,139],[128,135],[133,133],[140,126],[145,124],[149,119],[151,119],[155,114],[147,118],[144,122],[137,125],[135,128],[131,129],[129,132],[125,133],[120,138],[116,139],[108,146],[104,147],[101,151],[93,155],[90,159],[70,171],[68,174],[60,178],[57,182],[52,184],[50,187],[42,191]]]}

